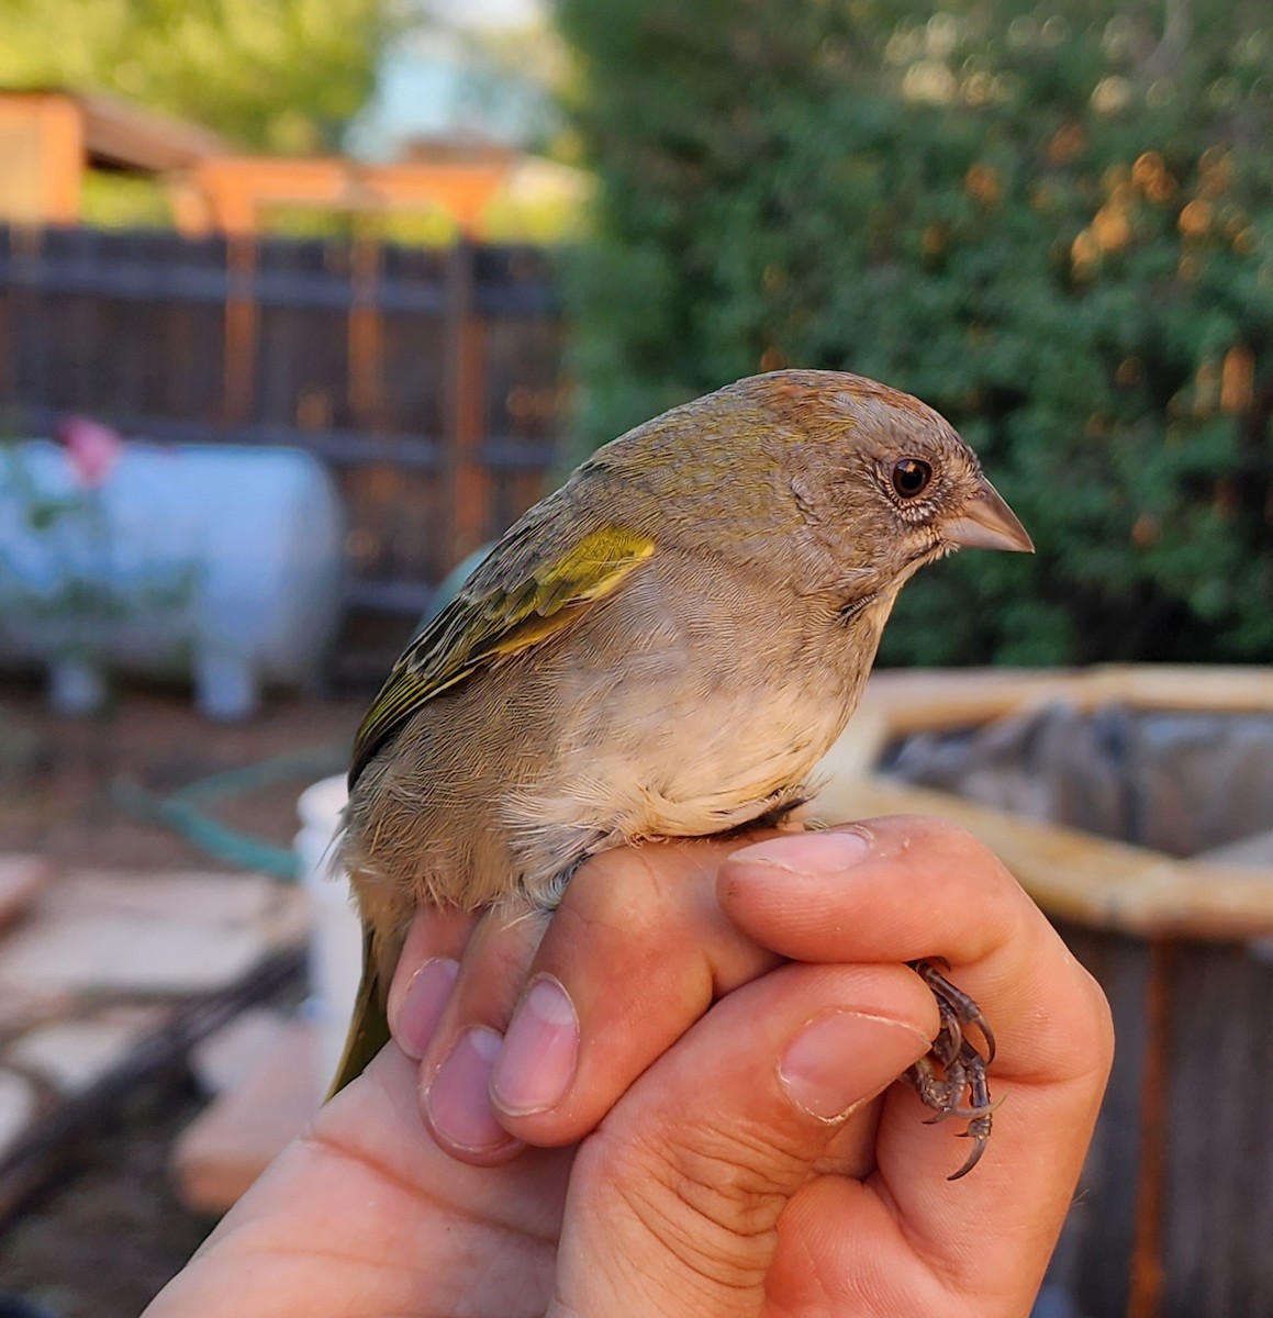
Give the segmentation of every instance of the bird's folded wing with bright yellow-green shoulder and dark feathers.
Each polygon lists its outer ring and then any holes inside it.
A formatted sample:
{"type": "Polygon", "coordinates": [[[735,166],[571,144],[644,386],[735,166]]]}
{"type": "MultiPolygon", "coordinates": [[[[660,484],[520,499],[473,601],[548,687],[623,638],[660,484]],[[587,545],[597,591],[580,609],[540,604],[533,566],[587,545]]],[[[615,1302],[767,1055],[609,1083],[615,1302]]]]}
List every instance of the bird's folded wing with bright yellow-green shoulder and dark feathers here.
{"type": "Polygon", "coordinates": [[[654,540],[638,532],[606,526],[561,535],[556,521],[557,527],[534,515],[518,522],[411,642],[354,738],[351,787],[430,700],[553,635],[654,554],[654,540]]]}

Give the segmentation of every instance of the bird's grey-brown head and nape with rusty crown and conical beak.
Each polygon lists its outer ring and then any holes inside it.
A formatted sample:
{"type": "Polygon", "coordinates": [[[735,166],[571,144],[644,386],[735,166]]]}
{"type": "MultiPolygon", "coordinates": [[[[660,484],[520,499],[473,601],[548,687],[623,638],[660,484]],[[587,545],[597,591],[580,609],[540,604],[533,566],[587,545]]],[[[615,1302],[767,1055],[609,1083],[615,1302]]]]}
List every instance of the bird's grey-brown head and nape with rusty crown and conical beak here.
{"type": "Polygon", "coordinates": [[[838,370],[726,385],[608,444],[577,478],[627,492],[625,525],[655,543],[675,529],[879,626],[903,583],[951,550],[1033,550],[949,422],[838,370]]]}

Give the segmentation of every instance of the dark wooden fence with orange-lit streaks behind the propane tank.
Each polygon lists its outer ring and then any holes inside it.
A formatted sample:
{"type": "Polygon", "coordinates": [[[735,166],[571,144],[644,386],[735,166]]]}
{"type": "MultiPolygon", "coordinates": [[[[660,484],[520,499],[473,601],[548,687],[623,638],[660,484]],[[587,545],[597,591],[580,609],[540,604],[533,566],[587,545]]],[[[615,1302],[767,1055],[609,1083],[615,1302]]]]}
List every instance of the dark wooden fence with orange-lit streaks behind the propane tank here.
{"type": "Polygon", "coordinates": [[[542,492],[561,323],[548,257],[370,241],[0,228],[0,424],[291,444],[339,474],[349,602],[414,614],[542,492]]]}

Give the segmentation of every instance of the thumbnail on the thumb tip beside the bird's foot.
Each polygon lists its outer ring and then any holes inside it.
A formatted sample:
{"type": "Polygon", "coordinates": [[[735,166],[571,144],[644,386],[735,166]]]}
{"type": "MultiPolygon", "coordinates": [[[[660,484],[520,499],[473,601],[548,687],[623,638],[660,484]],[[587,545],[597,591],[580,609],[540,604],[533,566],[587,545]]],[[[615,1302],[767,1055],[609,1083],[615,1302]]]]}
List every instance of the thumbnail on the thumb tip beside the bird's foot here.
{"type": "Polygon", "coordinates": [[[783,1054],[778,1077],[810,1116],[841,1120],[928,1048],[928,1039],[911,1025],[837,1011],[804,1027],[783,1054]]]}

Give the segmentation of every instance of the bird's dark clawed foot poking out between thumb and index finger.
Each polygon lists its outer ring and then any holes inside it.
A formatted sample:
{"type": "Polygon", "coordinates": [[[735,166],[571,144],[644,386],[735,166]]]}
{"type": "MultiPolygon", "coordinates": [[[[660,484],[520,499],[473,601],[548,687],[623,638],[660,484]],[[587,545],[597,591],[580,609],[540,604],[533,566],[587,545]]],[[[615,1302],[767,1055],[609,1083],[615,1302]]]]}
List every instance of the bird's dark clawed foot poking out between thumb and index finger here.
{"type": "Polygon", "coordinates": [[[996,1104],[990,1101],[986,1072],[995,1060],[995,1035],[980,1007],[957,988],[933,961],[912,961],[911,969],[933,991],[941,1014],[941,1029],[928,1056],[921,1057],[907,1072],[905,1078],[915,1086],[924,1103],[933,1110],[929,1124],[951,1116],[969,1123],[962,1133],[965,1139],[973,1141],[973,1148],[963,1166],[949,1177],[951,1181],[958,1181],[976,1166],[990,1139],[996,1104]],[[969,1043],[966,1031],[970,1025],[982,1035],[986,1044],[984,1053],[969,1043]]]}

